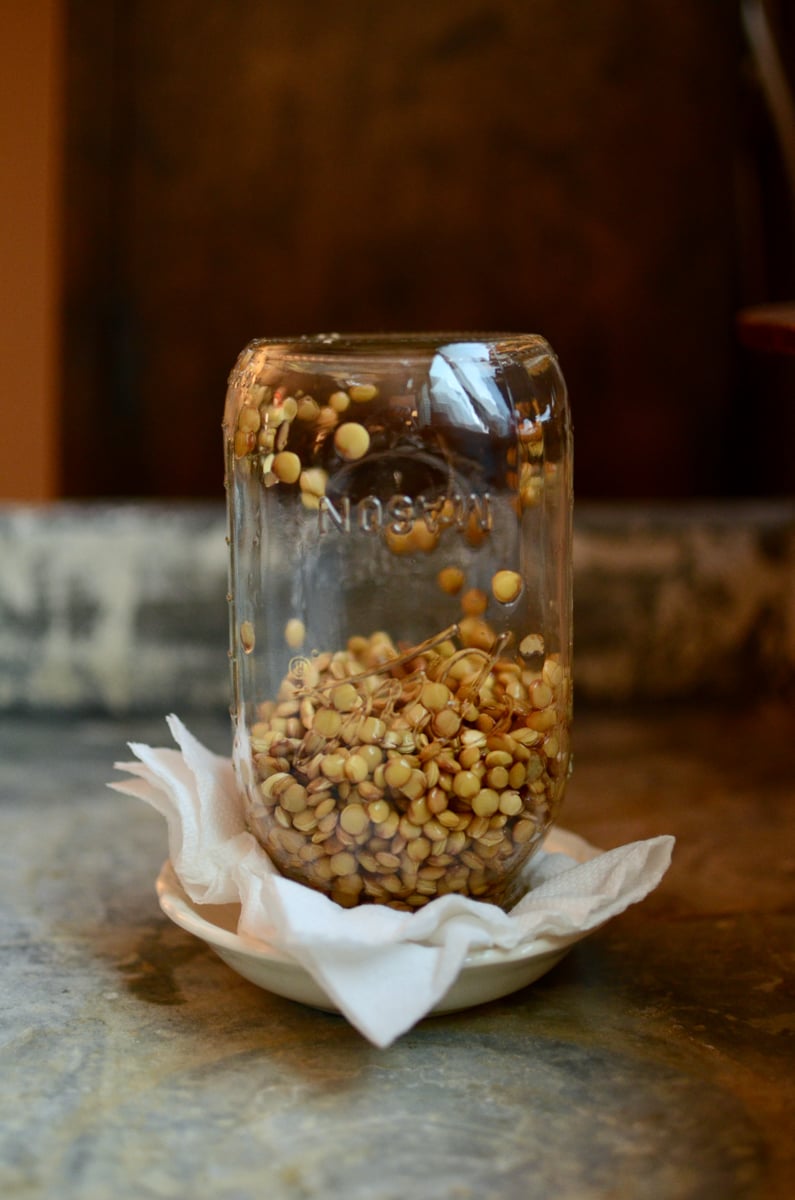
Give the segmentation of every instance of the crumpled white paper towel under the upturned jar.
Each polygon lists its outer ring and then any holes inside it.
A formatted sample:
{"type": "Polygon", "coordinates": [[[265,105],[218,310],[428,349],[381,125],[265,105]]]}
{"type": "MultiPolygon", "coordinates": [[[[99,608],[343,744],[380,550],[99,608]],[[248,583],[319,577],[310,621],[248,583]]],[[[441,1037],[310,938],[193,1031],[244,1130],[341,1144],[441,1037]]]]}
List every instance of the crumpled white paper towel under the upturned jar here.
{"type": "Polygon", "coordinates": [[[131,743],[138,761],[115,767],[132,778],[109,786],[166,817],[171,862],[193,902],[240,904],[238,932],[300,962],[375,1045],[389,1045],[429,1013],[467,954],[513,950],[540,937],[564,947],[642,900],[670,864],[669,836],[587,863],[540,851],[525,868],[527,890],[509,913],[454,894],[411,913],[382,905],[341,908],[279,875],[246,829],[232,762],[197,742],[177,716],[167,720],[179,750],[131,743]]]}

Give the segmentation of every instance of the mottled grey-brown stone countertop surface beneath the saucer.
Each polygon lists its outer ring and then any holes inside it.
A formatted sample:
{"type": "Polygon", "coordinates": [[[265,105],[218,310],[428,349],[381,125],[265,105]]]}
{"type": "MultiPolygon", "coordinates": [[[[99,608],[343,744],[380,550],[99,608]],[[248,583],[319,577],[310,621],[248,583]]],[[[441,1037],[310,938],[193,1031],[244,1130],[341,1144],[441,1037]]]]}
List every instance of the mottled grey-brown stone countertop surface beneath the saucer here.
{"type": "MultiPolygon", "coordinates": [[[[220,751],[225,719],[191,719],[220,751]]],[[[376,1050],[160,912],[166,829],[104,787],[162,720],[0,725],[8,1200],[784,1200],[795,714],[578,713],[563,824],[674,833],[656,893],[506,1000],[376,1050]]]]}

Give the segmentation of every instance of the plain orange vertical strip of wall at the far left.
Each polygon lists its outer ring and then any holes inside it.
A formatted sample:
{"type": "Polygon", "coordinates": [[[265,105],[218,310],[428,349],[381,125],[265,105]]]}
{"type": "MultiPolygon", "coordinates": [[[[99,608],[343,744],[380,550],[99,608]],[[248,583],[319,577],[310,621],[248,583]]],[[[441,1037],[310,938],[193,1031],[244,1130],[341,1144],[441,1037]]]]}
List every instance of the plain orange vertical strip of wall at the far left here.
{"type": "Polygon", "coordinates": [[[58,493],[64,0],[0,0],[0,499],[58,493]]]}

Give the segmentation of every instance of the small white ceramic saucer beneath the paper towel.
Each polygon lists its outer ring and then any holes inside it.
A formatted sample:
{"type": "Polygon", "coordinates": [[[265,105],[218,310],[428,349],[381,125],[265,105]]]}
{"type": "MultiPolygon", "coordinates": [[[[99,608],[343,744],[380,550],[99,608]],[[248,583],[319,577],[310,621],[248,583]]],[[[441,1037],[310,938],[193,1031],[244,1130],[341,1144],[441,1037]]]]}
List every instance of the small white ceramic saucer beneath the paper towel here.
{"type": "MultiPolygon", "coordinates": [[[[544,850],[568,854],[578,863],[585,863],[600,853],[566,829],[552,829],[544,842],[544,850]]],[[[169,862],[163,864],[156,887],[160,906],[166,916],[207,942],[244,979],[276,996],[297,1000],[328,1013],[337,1012],[321,985],[286,952],[235,932],[239,905],[193,904],[169,862]]],[[[508,996],[550,971],[581,937],[585,937],[585,932],[574,934],[566,941],[538,938],[515,950],[476,950],[464,960],[458,978],[432,1012],[450,1013],[508,996]]]]}

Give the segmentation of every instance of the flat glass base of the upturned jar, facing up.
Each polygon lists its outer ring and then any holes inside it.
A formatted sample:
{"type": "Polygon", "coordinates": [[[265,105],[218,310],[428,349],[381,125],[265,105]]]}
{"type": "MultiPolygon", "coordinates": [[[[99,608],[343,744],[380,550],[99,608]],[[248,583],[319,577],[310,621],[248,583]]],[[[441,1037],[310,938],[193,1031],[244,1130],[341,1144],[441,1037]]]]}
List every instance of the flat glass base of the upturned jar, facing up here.
{"type": "Polygon", "coordinates": [[[357,364],[383,361],[426,361],[440,352],[455,347],[456,358],[473,361],[492,354],[516,354],[543,350],[551,353],[540,334],[495,330],[406,331],[307,334],[297,337],[257,337],[247,349],[264,350],[268,359],[294,362],[319,362],[353,359],[357,364]]]}

